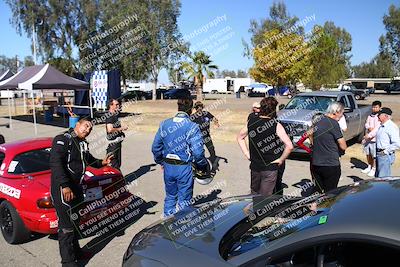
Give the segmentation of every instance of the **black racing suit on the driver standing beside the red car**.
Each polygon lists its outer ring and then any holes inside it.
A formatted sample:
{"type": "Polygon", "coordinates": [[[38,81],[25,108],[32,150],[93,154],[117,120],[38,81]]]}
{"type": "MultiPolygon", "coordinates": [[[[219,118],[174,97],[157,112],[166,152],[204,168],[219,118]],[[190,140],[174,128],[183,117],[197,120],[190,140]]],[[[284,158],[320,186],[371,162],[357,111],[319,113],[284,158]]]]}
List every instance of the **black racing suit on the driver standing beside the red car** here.
{"type": "Polygon", "coordinates": [[[79,242],[79,204],[83,202],[81,179],[86,166],[99,168],[101,160],[94,158],[86,140],[76,136],[73,129],[53,139],[50,153],[51,196],[58,217],[58,242],[63,266],[75,266],[79,242]],[[64,201],[62,189],[69,187],[74,199],[64,201]]]}

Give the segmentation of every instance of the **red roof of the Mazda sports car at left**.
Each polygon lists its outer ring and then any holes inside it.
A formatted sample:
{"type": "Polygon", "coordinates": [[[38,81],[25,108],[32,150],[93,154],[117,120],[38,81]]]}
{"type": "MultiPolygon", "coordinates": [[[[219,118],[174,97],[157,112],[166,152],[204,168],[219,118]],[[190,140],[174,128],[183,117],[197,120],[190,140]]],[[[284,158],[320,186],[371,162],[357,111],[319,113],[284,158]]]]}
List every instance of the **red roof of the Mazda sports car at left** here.
{"type": "Polygon", "coordinates": [[[19,154],[25,151],[51,147],[52,137],[29,138],[0,145],[0,152],[19,154]]]}

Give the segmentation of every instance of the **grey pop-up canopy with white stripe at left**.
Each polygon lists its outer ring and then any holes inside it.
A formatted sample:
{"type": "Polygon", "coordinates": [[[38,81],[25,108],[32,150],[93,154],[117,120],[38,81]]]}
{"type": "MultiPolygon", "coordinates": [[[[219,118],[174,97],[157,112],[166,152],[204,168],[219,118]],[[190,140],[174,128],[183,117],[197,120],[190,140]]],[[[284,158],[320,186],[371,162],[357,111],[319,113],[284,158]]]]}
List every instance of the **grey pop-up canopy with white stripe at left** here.
{"type": "MultiPolygon", "coordinates": [[[[14,76],[0,82],[0,90],[9,89],[26,90],[28,92],[46,89],[90,90],[90,84],[65,75],[49,64],[45,64],[26,67],[14,76]]],[[[37,134],[35,101],[33,99],[33,94],[32,100],[35,134],[37,134]]],[[[92,107],[90,107],[90,109],[91,108],[92,107]]]]}

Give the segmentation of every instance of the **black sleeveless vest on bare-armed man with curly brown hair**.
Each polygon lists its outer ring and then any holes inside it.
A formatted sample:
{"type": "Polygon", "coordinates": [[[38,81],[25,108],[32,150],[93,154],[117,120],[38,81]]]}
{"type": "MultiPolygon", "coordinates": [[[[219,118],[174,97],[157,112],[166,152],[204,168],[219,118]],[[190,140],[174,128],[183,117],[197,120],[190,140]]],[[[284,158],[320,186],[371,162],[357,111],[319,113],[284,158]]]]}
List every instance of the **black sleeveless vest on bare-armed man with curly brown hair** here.
{"type": "Polygon", "coordinates": [[[284,150],[282,140],[276,134],[278,121],[275,119],[249,116],[250,169],[253,171],[274,171],[278,164],[271,164],[284,150]]]}

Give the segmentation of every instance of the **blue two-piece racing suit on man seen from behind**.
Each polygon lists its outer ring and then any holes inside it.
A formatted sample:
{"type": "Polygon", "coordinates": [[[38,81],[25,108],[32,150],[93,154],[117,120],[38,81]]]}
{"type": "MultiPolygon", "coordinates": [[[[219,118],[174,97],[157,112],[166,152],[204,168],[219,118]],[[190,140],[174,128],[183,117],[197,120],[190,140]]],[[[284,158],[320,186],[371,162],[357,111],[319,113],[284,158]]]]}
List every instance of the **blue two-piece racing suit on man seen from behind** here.
{"type": "Polygon", "coordinates": [[[152,145],[154,161],[164,167],[164,215],[188,206],[193,196],[192,163],[205,170],[203,137],[199,126],[185,112],[160,124],[152,145]],[[177,207],[178,204],[178,207],[177,207]]]}

